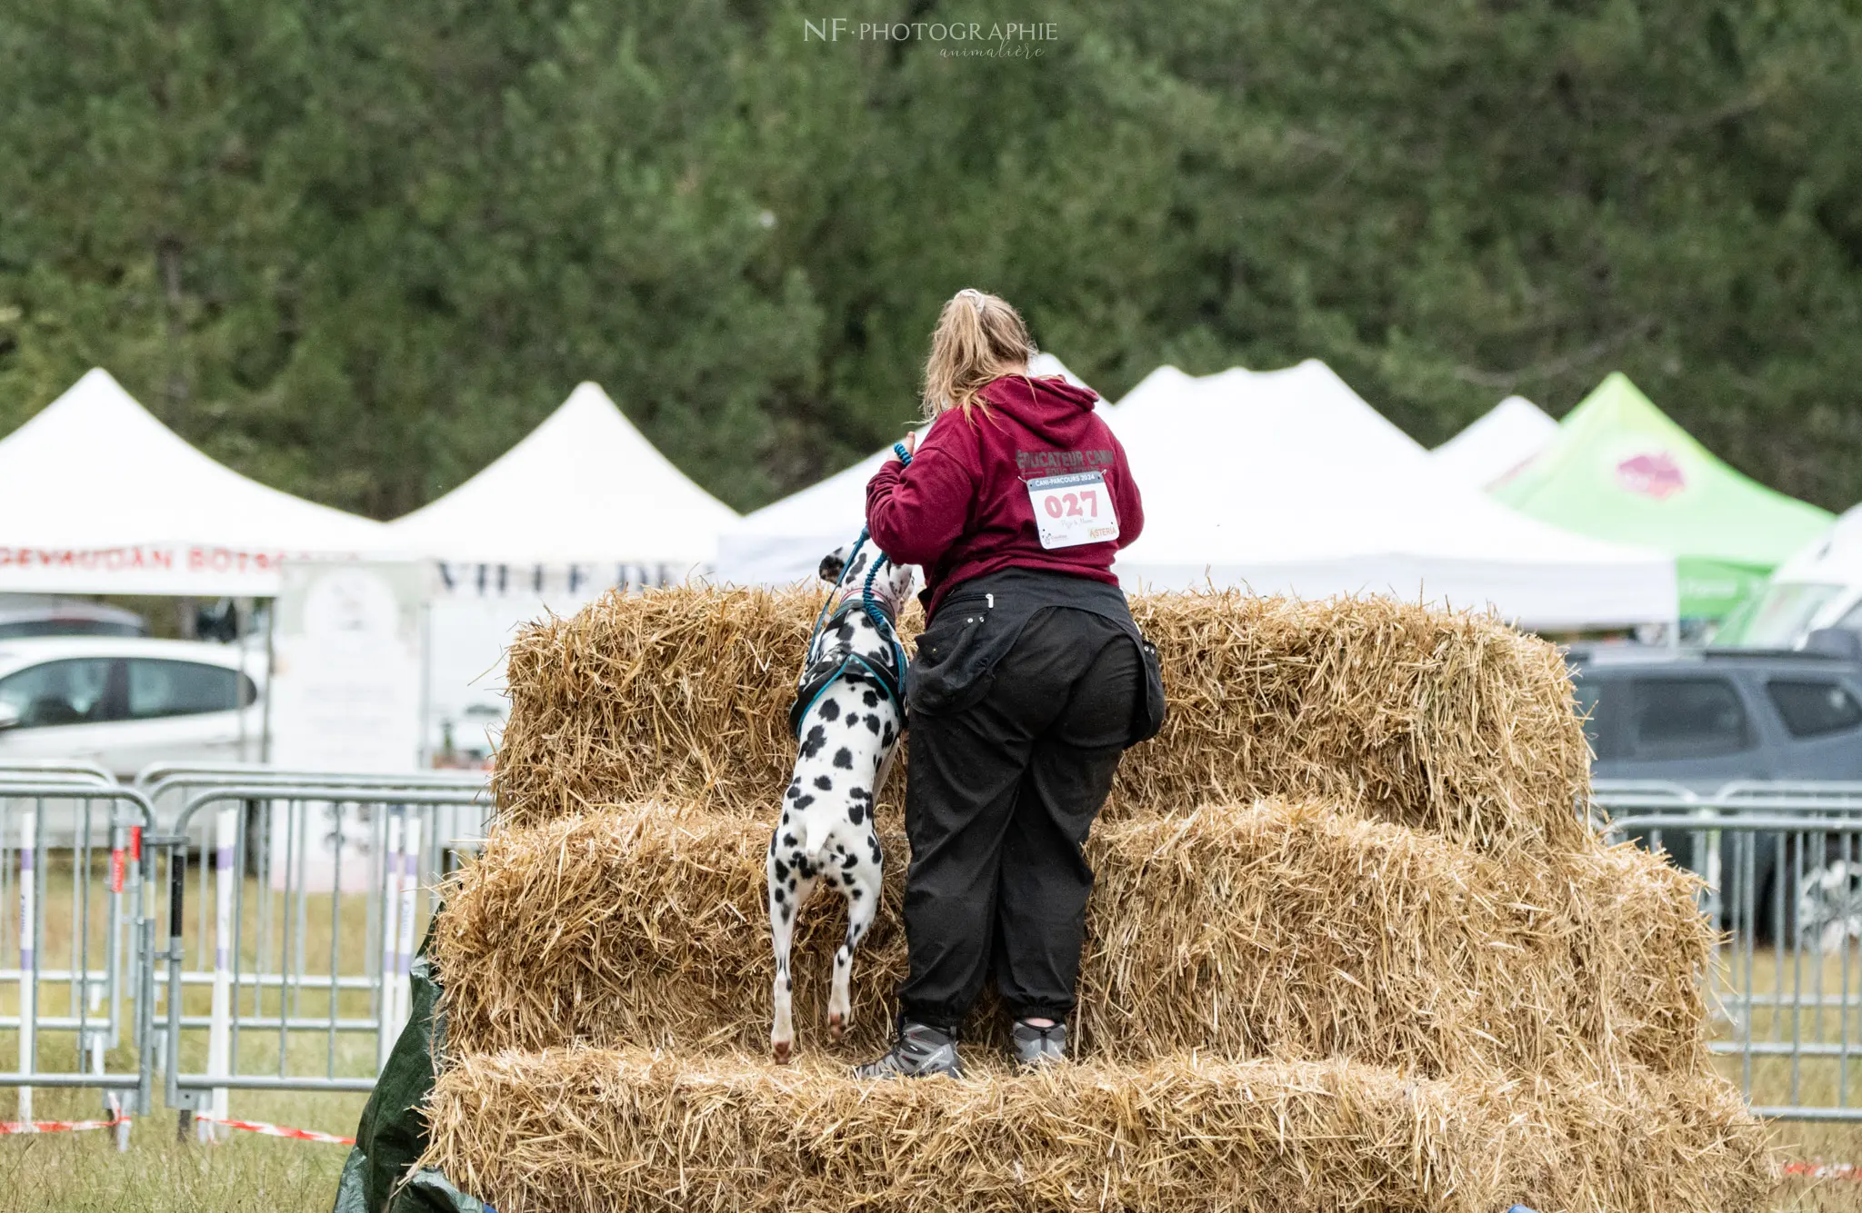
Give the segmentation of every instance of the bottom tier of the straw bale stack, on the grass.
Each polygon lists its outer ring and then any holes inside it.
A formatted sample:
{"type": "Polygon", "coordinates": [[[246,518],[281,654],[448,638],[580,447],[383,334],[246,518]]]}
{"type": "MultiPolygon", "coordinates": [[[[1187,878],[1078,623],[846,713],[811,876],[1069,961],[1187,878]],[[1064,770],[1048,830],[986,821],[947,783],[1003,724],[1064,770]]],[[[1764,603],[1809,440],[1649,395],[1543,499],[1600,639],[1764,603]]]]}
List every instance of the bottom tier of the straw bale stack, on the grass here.
{"type": "Polygon", "coordinates": [[[987,1070],[560,1049],[439,1075],[425,1165],[505,1213],[1758,1209],[1761,1131],[1717,1079],[1540,1090],[1350,1062],[987,1070]]]}

